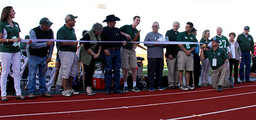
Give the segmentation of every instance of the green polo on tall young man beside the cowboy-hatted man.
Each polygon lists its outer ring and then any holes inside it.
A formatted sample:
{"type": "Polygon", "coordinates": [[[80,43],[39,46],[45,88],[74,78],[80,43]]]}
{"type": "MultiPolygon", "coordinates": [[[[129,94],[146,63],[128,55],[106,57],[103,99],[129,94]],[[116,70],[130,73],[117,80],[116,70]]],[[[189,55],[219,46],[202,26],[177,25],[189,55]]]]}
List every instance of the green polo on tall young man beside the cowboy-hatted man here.
{"type": "MultiPolygon", "coordinates": [[[[139,32],[136,27],[135,27],[135,29],[133,28],[132,24],[131,25],[123,25],[119,29],[121,32],[130,35],[132,40],[135,38],[135,36],[139,32]]],[[[129,42],[131,42],[131,40],[127,40],[127,38],[125,36],[123,36],[123,41],[128,42],[125,47],[132,47],[132,43],[129,43],[129,42]]],[[[136,40],[136,42],[139,42],[139,41],[140,41],[140,35],[139,35],[138,39],[136,40]]]]}

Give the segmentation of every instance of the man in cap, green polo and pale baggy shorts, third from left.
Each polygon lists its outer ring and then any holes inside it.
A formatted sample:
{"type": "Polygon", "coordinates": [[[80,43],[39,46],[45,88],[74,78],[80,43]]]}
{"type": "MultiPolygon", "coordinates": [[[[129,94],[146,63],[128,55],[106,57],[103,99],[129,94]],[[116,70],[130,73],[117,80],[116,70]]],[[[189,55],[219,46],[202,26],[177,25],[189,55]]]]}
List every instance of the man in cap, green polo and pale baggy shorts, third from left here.
{"type": "Polygon", "coordinates": [[[59,28],[57,32],[58,40],[74,40],[74,42],[56,42],[56,45],[59,46],[59,58],[61,61],[61,78],[62,87],[62,96],[71,97],[72,95],[78,95],[78,92],[75,92],[72,89],[72,83],[74,77],[77,75],[77,66],[78,58],[76,55],[77,44],[75,29],[75,18],[77,16],[67,15],[65,17],[66,24],[59,28]]]}

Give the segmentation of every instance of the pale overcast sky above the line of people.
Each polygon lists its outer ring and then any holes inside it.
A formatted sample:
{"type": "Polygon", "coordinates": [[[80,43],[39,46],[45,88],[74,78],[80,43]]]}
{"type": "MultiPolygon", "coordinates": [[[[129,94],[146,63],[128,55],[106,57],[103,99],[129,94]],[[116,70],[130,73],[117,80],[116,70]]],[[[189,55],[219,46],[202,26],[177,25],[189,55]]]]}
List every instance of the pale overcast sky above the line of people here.
{"type": "MultiPolygon", "coordinates": [[[[76,19],[75,32],[78,40],[82,36],[84,29],[90,30],[93,23],[100,22],[106,16],[114,14],[121,20],[117,21],[116,27],[125,24],[132,24],[133,17],[138,15],[141,22],[137,29],[141,29],[140,40],[144,41],[147,33],[152,31],[152,23],[159,22],[159,33],[163,36],[166,31],[172,29],[174,21],[180,22],[179,32],[185,31],[186,22],[194,23],[198,30],[197,39],[200,41],[202,32],[205,29],[210,30],[210,38],[216,36],[216,28],[223,28],[222,35],[228,39],[228,34],[234,32],[243,33],[244,26],[250,27],[250,32],[255,37],[255,2],[249,0],[177,0],[177,1],[144,1],[144,0],[11,0],[1,2],[0,8],[3,10],[6,6],[12,6],[16,12],[13,21],[18,22],[20,29],[20,38],[24,39],[32,28],[39,25],[43,17],[48,17],[53,25],[54,38],[58,29],[65,24],[65,16],[72,14],[78,16],[76,19]],[[97,4],[105,5],[98,8],[97,4]]],[[[106,26],[106,23],[102,23],[106,26]]],[[[254,40],[256,41],[256,40],[254,40]]],[[[145,52],[136,49],[137,53],[145,52]]]]}

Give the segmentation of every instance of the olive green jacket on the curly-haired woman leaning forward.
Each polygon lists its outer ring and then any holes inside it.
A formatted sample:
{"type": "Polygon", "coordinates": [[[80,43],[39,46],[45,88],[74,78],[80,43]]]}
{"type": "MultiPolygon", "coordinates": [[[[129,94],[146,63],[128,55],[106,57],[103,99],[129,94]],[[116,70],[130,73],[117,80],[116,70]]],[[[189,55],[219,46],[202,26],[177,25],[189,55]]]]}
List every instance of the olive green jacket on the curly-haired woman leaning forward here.
{"type": "MultiPolygon", "coordinates": [[[[92,30],[87,32],[86,34],[88,34],[90,36],[90,41],[97,41],[96,36],[95,36],[95,34],[93,33],[92,30]]],[[[100,35],[98,35],[98,40],[101,41],[100,35]]],[[[90,49],[92,51],[94,51],[95,48],[97,47],[97,43],[96,42],[91,42],[90,44],[91,44],[90,49]]],[[[90,62],[91,62],[93,56],[86,51],[86,49],[84,48],[84,44],[81,47],[79,56],[80,56],[80,61],[83,64],[85,64],[87,66],[90,65],[90,62]]]]}

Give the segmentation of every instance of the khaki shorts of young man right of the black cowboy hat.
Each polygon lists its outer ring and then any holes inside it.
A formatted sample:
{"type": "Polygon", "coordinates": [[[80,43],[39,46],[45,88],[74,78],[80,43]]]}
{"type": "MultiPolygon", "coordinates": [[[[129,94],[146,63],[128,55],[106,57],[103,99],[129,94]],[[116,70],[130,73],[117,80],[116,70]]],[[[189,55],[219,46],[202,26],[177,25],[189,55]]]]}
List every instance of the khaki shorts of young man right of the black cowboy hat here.
{"type": "Polygon", "coordinates": [[[137,57],[135,50],[121,48],[121,68],[137,68],[137,57]]]}

